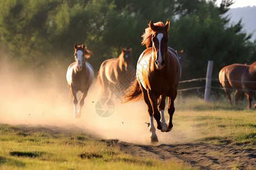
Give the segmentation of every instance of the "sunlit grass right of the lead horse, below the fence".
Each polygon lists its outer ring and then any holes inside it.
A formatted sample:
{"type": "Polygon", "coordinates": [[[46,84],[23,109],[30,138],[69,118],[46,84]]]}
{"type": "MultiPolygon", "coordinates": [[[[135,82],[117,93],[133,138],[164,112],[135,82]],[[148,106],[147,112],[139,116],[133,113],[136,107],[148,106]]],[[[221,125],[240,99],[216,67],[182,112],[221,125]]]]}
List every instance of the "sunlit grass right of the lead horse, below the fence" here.
{"type": "MultiPolygon", "coordinates": [[[[249,144],[256,149],[256,109],[226,103],[204,103],[200,99],[177,102],[174,124],[193,142],[217,145],[249,144]]],[[[175,125],[174,125],[175,126],[175,125]]]]}

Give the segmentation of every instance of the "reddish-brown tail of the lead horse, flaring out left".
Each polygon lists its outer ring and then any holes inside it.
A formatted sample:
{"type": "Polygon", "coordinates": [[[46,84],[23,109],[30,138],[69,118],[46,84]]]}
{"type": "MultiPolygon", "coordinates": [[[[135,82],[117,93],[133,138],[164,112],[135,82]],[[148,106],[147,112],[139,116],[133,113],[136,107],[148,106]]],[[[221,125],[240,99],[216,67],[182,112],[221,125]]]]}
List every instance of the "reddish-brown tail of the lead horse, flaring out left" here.
{"type": "Polygon", "coordinates": [[[125,96],[123,96],[123,103],[126,103],[128,101],[134,100],[141,100],[142,99],[142,91],[141,87],[139,87],[138,80],[135,79],[132,83],[131,86],[126,90],[125,96]]]}

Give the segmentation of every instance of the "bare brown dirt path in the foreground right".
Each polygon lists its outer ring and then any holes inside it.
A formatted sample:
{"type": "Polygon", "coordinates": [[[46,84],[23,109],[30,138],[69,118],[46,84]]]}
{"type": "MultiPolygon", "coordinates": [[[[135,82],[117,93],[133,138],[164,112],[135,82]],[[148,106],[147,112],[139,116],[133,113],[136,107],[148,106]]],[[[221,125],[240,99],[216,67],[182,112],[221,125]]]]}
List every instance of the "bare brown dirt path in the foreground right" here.
{"type": "Polygon", "coordinates": [[[180,145],[135,145],[117,140],[106,142],[118,145],[126,154],[191,164],[200,169],[256,169],[256,151],[244,145],[210,145],[185,143],[180,145]]]}

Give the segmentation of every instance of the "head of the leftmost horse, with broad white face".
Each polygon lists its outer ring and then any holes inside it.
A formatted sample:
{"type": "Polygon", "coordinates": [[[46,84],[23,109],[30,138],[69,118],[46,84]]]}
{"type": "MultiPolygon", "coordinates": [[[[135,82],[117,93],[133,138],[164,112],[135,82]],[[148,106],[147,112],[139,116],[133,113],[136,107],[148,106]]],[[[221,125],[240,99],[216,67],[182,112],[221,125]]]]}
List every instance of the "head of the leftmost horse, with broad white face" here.
{"type": "Polygon", "coordinates": [[[85,66],[85,58],[89,58],[92,52],[90,52],[84,44],[77,46],[75,43],[74,49],[75,49],[74,56],[75,56],[75,62],[76,62],[76,70],[81,71],[82,67],[85,66]]]}

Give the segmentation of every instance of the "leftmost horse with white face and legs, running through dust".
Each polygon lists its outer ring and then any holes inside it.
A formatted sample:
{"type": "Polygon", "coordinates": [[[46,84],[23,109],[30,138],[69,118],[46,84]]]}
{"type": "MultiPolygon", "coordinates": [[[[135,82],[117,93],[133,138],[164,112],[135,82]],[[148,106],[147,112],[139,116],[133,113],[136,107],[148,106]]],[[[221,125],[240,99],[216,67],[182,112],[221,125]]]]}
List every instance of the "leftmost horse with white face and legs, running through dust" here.
{"type": "Polygon", "coordinates": [[[84,99],[87,96],[90,85],[93,82],[93,67],[85,62],[86,58],[90,57],[90,52],[84,44],[77,46],[74,44],[75,49],[75,62],[73,62],[68,67],[67,71],[67,82],[73,98],[74,103],[74,118],[79,118],[81,116],[81,108],[84,105],[84,99]],[[78,91],[81,91],[81,97],[79,100],[80,109],[77,112],[77,98],[76,94],[78,91]]]}

